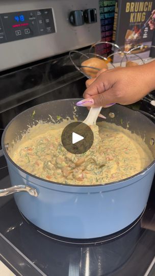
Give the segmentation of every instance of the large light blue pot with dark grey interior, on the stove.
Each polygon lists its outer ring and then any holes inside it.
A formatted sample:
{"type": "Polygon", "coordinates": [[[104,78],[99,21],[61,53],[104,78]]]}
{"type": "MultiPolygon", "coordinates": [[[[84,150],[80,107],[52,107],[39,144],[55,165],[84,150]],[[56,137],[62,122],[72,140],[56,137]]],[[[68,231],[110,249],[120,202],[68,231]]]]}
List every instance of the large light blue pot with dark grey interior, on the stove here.
{"type": "MultiPolygon", "coordinates": [[[[123,181],[104,186],[73,186],[33,176],[19,168],[8,155],[11,142],[18,134],[21,135],[20,131],[34,122],[33,110],[36,110],[36,120],[46,120],[48,114],[66,117],[71,115],[77,101],[44,103],[20,113],[8,124],[2,137],[2,146],[13,187],[9,188],[11,191],[1,191],[0,195],[21,191],[14,194],[18,209],[39,228],[63,237],[89,239],[120,231],[140,216],[148,200],[155,171],[154,162],[141,173],[123,181]]],[[[79,108],[77,111],[80,120],[85,118],[87,110],[79,108]]],[[[119,124],[120,119],[123,119],[124,126],[130,122],[131,130],[135,130],[142,138],[145,135],[146,143],[155,154],[154,145],[149,145],[154,135],[154,124],[149,119],[118,105],[104,109],[105,116],[108,117],[109,112],[115,113],[115,118],[109,118],[109,122],[119,124]]]]}

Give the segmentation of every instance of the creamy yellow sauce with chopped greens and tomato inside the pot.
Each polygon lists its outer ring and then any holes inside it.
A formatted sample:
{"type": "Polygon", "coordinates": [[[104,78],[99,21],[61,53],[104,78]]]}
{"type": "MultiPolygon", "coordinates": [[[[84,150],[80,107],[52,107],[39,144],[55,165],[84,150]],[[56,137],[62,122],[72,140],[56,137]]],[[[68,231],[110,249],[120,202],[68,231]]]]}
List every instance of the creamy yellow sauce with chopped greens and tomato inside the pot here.
{"type": "Polygon", "coordinates": [[[83,154],[69,153],[63,147],[64,124],[38,124],[16,143],[10,157],[33,175],[72,185],[121,180],[151,163],[151,152],[139,136],[114,124],[98,125],[91,126],[94,143],[83,154]]]}

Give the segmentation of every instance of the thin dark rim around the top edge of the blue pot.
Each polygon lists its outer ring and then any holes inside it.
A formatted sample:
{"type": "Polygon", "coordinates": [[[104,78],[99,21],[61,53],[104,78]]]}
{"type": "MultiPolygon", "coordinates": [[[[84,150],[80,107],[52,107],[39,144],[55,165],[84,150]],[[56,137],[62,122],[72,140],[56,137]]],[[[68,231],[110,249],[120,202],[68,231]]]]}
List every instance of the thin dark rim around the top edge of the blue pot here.
{"type": "MultiPolygon", "coordinates": [[[[24,110],[24,111],[22,111],[22,112],[20,112],[19,114],[17,114],[17,116],[15,116],[9,123],[8,123],[8,125],[5,127],[5,129],[4,129],[4,132],[3,132],[3,134],[2,134],[2,149],[3,149],[3,152],[4,152],[4,155],[9,159],[9,161],[19,170],[19,171],[22,171],[23,173],[25,173],[25,174],[28,174],[28,175],[30,175],[31,177],[34,177],[34,178],[36,178],[36,179],[39,179],[39,180],[41,180],[41,181],[45,181],[45,182],[47,182],[47,183],[52,183],[52,184],[54,184],[54,185],[60,185],[60,186],[67,186],[67,187],[84,187],[84,188],[90,188],[90,187],[102,187],[102,186],[115,186],[117,183],[123,183],[123,182],[126,182],[127,180],[130,180],[130,179],[133,179],[133,178],[135,178],[136,176],[139,176],[139,175],[144,175],[145,174],[145,172],[148,170],[148,169],[150,169],[154,164],[155,164],[155,159],[153,159],[153,161],[145,168],[145,169],[143,169],[142,171],[140,171],[139,173],[136,173],[136,174],[134,174],[134,175],[132,175],[132,176],[130,176],[130,177],[127,177],[127,178],[124,178],[124,179],[121,179],[121,180],[117,180],[117,181],[114,181],[114,182],[108,182],[108,183],[105,183],[105,184],[94,184],[94,185],[74,185],[74,184],[66,184],[66,183],[60,183],[60,182],[55,182],[55,181],[50,181],[50,180],[47,180],[47,179],[44,179],[44,178],[41,178],[41,177],[38,177],[38,176],[36,176],[36,175],[34,175],[34,174],[31,174],[31,173],[29,173],[29,172],[27,172],[27,171],[25,171],[25,170],[23,170],[21,167],[19,167],[12,159],[11,159],[11,157],[9,156],[9,154],[8,154],[8,152],[7,152],[7,150],[6,150],[6,147],[5,147],[5,144],[4,144],[4,139],[5,139],[5,134],[6,134],[6,131],[7,131],[7,129],[9,128],[9,126],[12,124],[12,122],[17,118],[17,117],[19,117],[22,113],[25,113],[25,112],[27,112],[28,110],[30,110],[30,109],[34,109],[36,106],[41,106],[41,105],[44,105],[44,104],[48,104],[48,103],[50,103],[50,102],[60,102],[60,101],[68,101],[68,100],[77,100],[77,101],[79,101],[79,99],[81,99],[81,98],[69,98],[69,99],[59,99],[59,100],[54,100],[54,101],[48,101],[48,102],[44,102],[44,103],[41,103],[41,104],[37,104],[37,105],[34,105],[34,106],[32,106],[32,107],[30,107],[30,108],[28,108],[28,109],[26,109],[26,110],[24,110]]],[[[118,105],[118,104],[116,104],[116,105],[118,105]]],[[[127,107],[125,107],[125,106],[123,106],[124,108],[127,108],[127,107]]],[[[131,109],[132,110],[132,112],[135,112],[135,113],[137,113],[138,111],[136,111],[136,110],[133,110],[133,109],[131,109]]],[[[145,118],[147,118],[144,114],[142,114],[141,113],[141,116],[144,116],[145,118]]],[[[148,119],[148,118],[147,118],[148,119]]],[[[148,119],[149,120],[149,119],[148,119]]],[[[149,120],[149,121],[151,121],[151,120],[149,120]]],[[[154,124],[153,122],[152,122],[152,124],[154,124]]]]}

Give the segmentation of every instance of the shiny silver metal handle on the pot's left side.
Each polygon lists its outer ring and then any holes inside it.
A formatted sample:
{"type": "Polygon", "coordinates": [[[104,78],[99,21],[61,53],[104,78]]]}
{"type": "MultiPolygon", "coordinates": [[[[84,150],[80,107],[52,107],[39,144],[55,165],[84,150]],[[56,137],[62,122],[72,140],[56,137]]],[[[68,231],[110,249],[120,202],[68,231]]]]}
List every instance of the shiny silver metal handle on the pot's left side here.
{"type": "Polygon", "coordinates": [[[0,190],[0,197],[11,195],[17,192],[28,192],[31,196],[38,196],[38,192],[35,188],[28,185],[16,185],[7,189],[0,190]]]}

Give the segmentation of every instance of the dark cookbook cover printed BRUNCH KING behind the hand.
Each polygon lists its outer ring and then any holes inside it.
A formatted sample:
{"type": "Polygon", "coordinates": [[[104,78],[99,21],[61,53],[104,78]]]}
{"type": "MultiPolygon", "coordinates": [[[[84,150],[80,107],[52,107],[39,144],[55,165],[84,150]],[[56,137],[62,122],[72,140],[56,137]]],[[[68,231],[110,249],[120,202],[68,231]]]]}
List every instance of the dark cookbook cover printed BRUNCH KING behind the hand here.
{"type": "MultiPolygon", "coordinates": [[[[113,42],[123,51],[139,47],[128,55],[132,60],[138,56],[145,59],[150,55],[150,48],[155,26],[155,1],[117,0],[115,6],[113,42]]],[[[114,49],[113,62],[120,62],[123,55],[116,54],[114,49]]]]}

